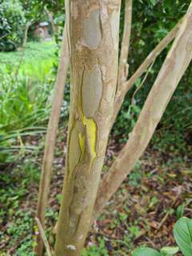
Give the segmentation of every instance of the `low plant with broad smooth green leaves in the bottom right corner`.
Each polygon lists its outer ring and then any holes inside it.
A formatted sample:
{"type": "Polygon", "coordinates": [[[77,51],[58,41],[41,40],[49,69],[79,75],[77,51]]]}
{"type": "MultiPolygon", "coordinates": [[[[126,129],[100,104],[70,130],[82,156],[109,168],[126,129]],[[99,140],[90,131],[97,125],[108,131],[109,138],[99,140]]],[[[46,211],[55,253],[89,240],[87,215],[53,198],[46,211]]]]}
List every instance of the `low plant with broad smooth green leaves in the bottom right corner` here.
{"type": "Polygon", "coordinates": [[[160,252],[149,247],[139,247],[134,250],[132,256],[171,256],[180,249],[184,256],[192,255],[192,219],[182,217],[174,225],[174,238],[178,246],[162,247],[160,252]]]}

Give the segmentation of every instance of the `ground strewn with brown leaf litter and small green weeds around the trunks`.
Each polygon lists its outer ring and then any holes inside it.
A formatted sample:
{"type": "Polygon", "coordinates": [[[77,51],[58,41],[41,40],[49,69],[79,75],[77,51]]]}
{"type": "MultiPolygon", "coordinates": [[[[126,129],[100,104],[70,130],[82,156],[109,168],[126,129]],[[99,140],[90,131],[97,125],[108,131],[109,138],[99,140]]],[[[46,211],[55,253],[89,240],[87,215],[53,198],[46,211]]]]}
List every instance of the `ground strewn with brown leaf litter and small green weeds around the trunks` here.
{"type": "MultiPolygon", "coordinates": [[[[59,134],[46,211],[46,235],[50,246],[54,245],[53,227],[62,197],[66,130],[60,129],[59,134]]],[[[39,145],[42,143],[41,136],[26,140],[29,143],[36,140],[39,145]]],[[[107,171],[122,145],[115,140],[110,141],[103,172],[107,171]]],[[[34,215],[42,146],[36,154],[20,155],[18,162],[1,169],[0,255],[34,255],[37,231],[34,215]]],[[[191,216],[191,184],[192,162],[187,154],[165,154],[149,146],[94,222],[82,255],[130,255],[139,245],[154,249],[173,246],[174,223],[183,215],[191,216]]]]}

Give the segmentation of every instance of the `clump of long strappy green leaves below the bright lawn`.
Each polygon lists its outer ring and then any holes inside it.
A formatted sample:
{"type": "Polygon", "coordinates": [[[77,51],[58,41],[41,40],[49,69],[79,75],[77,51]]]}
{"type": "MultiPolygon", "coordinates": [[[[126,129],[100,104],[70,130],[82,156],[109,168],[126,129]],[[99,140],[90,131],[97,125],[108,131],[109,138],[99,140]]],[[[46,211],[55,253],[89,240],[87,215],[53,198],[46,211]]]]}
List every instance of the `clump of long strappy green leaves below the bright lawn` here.
{"type": "Polygon", "coordinates": [[[24,145],[23,138],[45,132],[53,85],[23,77],[15,80],[13,74],[0,75],[0,79],[0,162],[5,163],[14,153],[33,150],[24,145]]]}

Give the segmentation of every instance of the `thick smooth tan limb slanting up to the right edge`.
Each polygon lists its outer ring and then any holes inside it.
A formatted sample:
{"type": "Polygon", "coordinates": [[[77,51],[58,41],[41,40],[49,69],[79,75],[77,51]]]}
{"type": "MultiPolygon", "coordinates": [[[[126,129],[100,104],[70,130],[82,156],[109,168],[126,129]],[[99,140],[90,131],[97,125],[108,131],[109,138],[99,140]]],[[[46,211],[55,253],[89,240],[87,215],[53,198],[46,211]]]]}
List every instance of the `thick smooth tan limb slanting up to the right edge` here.
{"type": "Polygon", "coordinates": [[[171,96],[174,94],[174,90],[178,86],[178,82],[190,64],[191,58],[192,3],[186,17],[182,21],[182,25],[162,65],[162,69],[159,71],[154,86],[150,90],[150,94],[146,99],[138,122],[130,134],[126,146],[124,146],[118,158],[110,167],[109,172],[102,180],[94,208],[94,217],[99,214],[146,149],[168,102],[170,102],[171,96]]]}

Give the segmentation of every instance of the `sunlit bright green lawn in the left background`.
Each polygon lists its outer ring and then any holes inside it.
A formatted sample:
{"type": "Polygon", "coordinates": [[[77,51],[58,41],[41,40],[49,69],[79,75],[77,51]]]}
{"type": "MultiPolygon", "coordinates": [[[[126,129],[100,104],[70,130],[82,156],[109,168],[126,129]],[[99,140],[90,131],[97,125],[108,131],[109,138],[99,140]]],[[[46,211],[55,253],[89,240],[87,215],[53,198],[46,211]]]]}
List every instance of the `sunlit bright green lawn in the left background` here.
{"type": "Polygon", "coordinates": [[[0,72],[14,73],[19,66],[19,75],[44,81],[54,65],[55,48],[54,42],[28,42],[24,53],[23,49],[10,53],[0,52],[0,72]],[[21,59],[22,63],[20,63],[21,59]]]}

